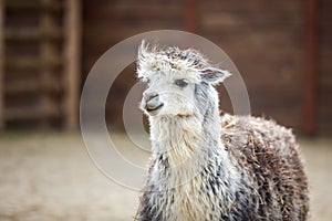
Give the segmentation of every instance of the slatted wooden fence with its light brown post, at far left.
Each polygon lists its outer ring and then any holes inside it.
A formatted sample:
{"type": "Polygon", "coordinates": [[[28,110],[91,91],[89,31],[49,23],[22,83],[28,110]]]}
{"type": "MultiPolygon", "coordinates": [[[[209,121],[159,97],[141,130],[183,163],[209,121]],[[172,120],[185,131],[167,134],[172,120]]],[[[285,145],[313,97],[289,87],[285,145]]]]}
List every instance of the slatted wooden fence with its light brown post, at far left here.
{"type": "Polygon", "coordinates": [[[2,127],[77,128],[80,6],[1,0],[2,127]]]}

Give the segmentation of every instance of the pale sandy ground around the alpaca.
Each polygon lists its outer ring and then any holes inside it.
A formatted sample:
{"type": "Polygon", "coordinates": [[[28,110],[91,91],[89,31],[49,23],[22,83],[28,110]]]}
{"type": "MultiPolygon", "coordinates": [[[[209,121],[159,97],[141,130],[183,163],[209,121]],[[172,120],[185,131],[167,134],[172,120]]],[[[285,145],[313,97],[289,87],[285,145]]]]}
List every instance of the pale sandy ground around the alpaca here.
{"type": "MultiPolygon", "coordinates": [[[[90,159],[80,134],[0,136],[1,221],[133,220],[139,192],[104,176],[90,159]]],[[[131,156],[131,143],[123,135],[113,139],[124,156],[131,156]]],[[[300,143],[311,183],[311,220],[330,221],[332,139],[300,143]]],[[[136,157],[139,164],[146,160],[143,155],[136,157]]],[[[112,160],[116,161],[111,156],[112,160]]],[[[133,176],[126,168],[117,170],[133,176]]]]}

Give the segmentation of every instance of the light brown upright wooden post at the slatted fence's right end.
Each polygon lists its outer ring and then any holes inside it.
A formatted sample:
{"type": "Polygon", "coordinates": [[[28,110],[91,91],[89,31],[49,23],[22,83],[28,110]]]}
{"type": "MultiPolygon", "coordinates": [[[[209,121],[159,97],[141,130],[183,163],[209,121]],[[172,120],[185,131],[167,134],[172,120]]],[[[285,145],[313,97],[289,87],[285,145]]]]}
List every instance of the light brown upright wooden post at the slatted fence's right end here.
{"type": "Polygon", "coordinates": [[[65,1],[65,128],[76,129],[79,123],[79,74],[81,56],[81,1],[65,1]]]}

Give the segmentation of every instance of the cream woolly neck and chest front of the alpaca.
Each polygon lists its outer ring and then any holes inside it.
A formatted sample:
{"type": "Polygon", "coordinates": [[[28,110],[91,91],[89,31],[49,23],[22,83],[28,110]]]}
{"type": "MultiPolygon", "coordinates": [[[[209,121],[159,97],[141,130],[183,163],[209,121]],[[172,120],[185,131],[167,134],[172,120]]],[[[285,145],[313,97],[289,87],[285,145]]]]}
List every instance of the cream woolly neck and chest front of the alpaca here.
{"type": "Polygon", "coordinates": [[[173,207],[167,210],[174,217],[165,220],[204,220],[209,203],[219,204],[220,201],[220,212],[227,214],[234,207],[239,172],[222,148],[217,108],[200,116],[153,117],[151,126],[154,167],[147,186],[157,187],[162,192],[175,191],[173,207]],[[208,200],[199,200],[197,192],[208,191],[207,179],[219,180],[214,176],[224,180],[216,183],[220,194],[205,192],[208,200]]]}

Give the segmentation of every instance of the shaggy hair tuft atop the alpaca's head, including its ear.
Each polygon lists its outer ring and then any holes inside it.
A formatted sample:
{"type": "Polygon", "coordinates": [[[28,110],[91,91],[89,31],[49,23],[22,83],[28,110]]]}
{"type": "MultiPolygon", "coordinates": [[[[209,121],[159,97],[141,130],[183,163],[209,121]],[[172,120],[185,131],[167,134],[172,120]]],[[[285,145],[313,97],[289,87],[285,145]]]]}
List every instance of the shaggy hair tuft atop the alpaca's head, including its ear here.
{"type": "Polygon", "coordinates": [[[195,78],[211,85],[217,85],[231,75],[228,71],[210,64],[208,59],[197,50],[180,50],[177,46],[158,48],[156,44],[151,45],[143,40],[138,46],[138,78],[145,81],[154,71],[164,70],[165,67],[191,73],[196,75],[195,78]]]}

